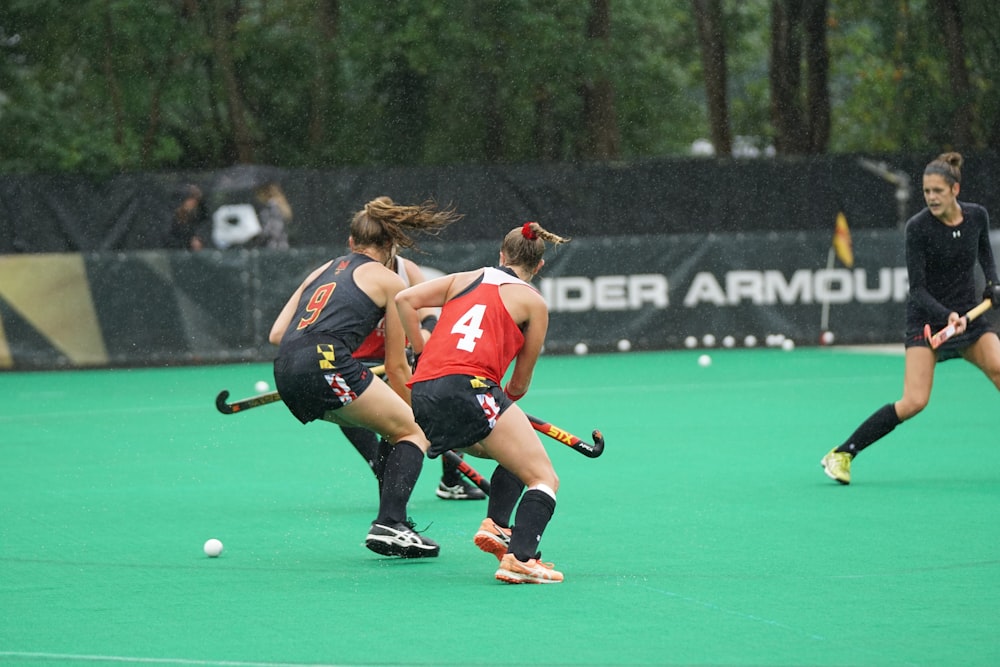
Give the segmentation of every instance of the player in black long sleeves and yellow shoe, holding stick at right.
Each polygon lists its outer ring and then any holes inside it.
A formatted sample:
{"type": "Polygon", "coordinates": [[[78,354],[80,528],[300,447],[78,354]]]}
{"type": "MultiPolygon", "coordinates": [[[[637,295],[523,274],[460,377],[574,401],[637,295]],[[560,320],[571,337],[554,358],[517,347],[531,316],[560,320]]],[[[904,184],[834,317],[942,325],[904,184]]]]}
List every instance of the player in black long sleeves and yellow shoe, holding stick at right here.
{"type": "Polygon", "coordinates": [[[906,223],[906,269],[910,296],[906,304],[906,361],[903,397],[875,411],[844,444],[823,457],[826,474],[851,482],[851,463],[865,447],[923,410],[931,396],[934,366],[962,357],[1000,389],[1000,338],[983,319],[972,322],[959,313],[977,305],[975,268],[986,279],[983,299],[1000,307],[1000,281],[990,247],[989,214],[978,204],[958,201],[962,156],[943,153],[924,168],[927,207],[906,223]],[[956,335],[934,350],[924,336],[953,325],[956,335]]]}

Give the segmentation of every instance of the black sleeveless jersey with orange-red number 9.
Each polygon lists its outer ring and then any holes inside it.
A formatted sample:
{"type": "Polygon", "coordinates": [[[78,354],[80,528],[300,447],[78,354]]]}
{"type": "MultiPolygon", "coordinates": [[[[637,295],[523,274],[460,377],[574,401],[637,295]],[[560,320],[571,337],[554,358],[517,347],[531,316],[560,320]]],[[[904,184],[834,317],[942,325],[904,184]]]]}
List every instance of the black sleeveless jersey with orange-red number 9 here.
{"type": "Polygon", "coordinates": [[[354,282],[354,271],[375,260],[351,253],[338,257],[302,292],[288,330],[281,339],[282,349],[301,341],[334,339],[353,352],[385,315],[354,282]]]}

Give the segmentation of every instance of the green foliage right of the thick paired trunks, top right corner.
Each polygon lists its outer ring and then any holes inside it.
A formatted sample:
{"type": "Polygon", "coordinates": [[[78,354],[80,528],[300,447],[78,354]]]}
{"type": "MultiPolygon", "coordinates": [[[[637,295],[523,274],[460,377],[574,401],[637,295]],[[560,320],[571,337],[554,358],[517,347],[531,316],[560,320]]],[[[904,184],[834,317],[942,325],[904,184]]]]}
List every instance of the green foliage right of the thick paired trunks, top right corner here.
{"type": "Polygon", "coordinates": [[[831,151],[943,150],[953,145],[953,114],[966,102],[978,112],[974,147],[998,146],[995,21],[983,3],[960,3],[974,97],[956,100],[934,4],[831,2],[831,151]]]}

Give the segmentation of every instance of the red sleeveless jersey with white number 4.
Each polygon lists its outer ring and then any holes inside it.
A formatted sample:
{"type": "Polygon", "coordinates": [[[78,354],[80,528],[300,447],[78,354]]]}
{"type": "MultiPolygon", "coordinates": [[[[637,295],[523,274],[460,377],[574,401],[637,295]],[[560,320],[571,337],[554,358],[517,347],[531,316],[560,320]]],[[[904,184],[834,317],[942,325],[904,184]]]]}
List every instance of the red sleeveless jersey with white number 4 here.
{"type": "Polygon", "coordinates": [[[500,298],[500,285],[510,284],[535,289],[506,271],[486,267],[444,304],[409,386],[446,375],[480,375],[500,384],[524,345],[524,334],[500,298]]]}

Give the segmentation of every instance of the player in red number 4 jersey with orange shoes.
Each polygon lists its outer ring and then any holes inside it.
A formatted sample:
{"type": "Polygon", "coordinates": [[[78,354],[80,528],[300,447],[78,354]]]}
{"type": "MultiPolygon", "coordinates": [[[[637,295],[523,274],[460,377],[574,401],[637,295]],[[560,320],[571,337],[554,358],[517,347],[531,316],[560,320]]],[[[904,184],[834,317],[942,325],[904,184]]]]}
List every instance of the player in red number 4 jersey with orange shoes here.
{"type": "Polygon", "coordinates": [[[528,391],[548,329],[548,307],[531,285],[545,263],[546,241],[568,239],[537,222],[525,223],[504,237],[498,268],[443,276],[396,295],[403,329],[419,358],[410,387],[413,414],[431,442],[428,456],[468,448],[499,464],[490,480],[487,519],[475,541],[500,559],[496,578],[515,584],[563,579],[538,552],[559,479],[514,403],[528,391]],[[422,345],[419,310],[434,307],[441,307],[440,319],[422,345]],[[501,387],[512,361],[510,380],[501,387]]]}

